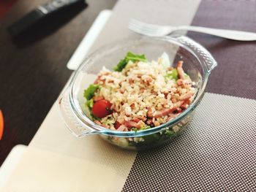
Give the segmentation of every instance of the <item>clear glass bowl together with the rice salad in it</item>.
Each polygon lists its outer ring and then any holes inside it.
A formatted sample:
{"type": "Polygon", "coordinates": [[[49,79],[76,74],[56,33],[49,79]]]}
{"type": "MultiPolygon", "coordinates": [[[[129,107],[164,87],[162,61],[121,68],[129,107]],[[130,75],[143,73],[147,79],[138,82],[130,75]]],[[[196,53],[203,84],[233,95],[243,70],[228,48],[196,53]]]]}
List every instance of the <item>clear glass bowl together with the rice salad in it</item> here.
{"type": "Polygon", "coordinates": [[[104,47],[75,72],[59,99],[61,114],[77,137],[99,134],[131,150],[162,145],[192,120],[216,65],[187,37],[104,47]]]}

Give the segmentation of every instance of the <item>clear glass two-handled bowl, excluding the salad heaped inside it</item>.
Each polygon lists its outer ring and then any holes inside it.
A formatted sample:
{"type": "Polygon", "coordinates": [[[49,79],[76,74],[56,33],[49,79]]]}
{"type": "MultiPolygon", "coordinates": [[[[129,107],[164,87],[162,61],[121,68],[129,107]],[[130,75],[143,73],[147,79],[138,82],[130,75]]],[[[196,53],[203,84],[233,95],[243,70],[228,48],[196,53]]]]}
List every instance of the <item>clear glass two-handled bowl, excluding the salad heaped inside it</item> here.
{"type": "Polygon", "coordinates": [[[99,134],[111,144],[129,150],[156,147],[170,142],[187,127],[192,120],[195,108],[203,97],[209,74],[215,66],[217,66],[217,62],[211,54],[188,37],[123,39],[100,48],[83,61],[59,97],[61,116],[76,137],[99,134]],[[167,123],[142,131],[112,131],[97,125],[89,118],[83,91],[94,82],[102,66],[113,69],[113,66],[116,66],[129,51],[145,54],[148,61],[156,60],[164,52],[169,55],[173,64],[180,60],[184,61],[184,71],[195,82],[197,89],[195,99],[187,110],[167,123]]]}

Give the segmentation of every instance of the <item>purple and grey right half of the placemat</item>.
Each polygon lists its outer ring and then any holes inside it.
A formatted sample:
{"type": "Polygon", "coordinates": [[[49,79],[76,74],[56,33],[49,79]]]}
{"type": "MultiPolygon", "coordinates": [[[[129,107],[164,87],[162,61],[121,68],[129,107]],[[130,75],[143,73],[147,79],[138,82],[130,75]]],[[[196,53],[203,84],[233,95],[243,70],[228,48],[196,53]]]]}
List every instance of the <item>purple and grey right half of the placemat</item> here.
{"type": "MultiPolygon", "coordinates": [[[[254,0],[203,0],[192,25],[256,32],[255,9],[254,0]]],[[[138,153],[123,191],[256,191],[256,44],[188,36],[219,63],[211,93],[181,137],[138,153]]]]}

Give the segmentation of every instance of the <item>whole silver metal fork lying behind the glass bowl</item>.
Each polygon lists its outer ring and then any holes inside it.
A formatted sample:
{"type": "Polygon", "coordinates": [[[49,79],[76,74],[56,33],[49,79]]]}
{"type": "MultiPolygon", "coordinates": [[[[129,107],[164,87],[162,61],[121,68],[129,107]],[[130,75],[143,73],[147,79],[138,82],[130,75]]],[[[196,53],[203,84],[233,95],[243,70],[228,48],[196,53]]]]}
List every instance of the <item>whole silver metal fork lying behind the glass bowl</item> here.
{"type": "Polygon", "coordinates": [[[211,34],[217,37],[232,39],[237,41],[255,41],[256,33],[246,31],[233,31],[219,28],[206,28],[198,26],[157,26],[143,23],[139,20],[132,19],[129,22],[129,29],[151,37],[163,37],[174,31],[195,31],[203,34],[211,34]]]}

